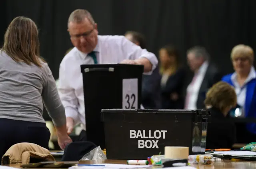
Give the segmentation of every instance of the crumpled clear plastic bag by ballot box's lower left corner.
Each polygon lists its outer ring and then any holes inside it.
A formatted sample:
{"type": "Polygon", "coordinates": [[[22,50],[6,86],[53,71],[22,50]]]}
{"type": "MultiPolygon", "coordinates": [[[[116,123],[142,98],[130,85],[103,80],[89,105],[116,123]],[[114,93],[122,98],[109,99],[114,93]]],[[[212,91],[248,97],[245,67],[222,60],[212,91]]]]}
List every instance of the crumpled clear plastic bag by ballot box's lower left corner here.
{"type": "Polygon", "coordinates": [[[92,151],[90,151],[89,153],[87,153],[86,155],[84,155],[84,157],[82,157],[81,160],[105,160],[105,159],[107,159],[106,155],[104,154],[100,146],[98,146],[92,151]]]}

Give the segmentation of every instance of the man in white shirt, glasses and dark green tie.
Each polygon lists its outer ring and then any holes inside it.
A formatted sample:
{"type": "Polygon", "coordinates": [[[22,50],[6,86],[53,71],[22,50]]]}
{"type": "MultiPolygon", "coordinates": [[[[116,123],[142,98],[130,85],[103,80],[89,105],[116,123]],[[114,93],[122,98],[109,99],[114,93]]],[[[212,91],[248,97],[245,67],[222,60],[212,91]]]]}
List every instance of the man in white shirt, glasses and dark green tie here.
{"type": "Polygon", "coordinates": [[[80,123],[81,134],[84,136],[86,125],[80,65],[111,63],[144,65],[144,73],[150,74],[158,64],[158,60],[153,53],[141,49],[124,36],[98,35],[97,24],[87,10],[78,9],[70,14],[68,32],[74,48],[60,63],[58,89],[65,107],[68,133],[72,132],[75,124],[80,123]]]}

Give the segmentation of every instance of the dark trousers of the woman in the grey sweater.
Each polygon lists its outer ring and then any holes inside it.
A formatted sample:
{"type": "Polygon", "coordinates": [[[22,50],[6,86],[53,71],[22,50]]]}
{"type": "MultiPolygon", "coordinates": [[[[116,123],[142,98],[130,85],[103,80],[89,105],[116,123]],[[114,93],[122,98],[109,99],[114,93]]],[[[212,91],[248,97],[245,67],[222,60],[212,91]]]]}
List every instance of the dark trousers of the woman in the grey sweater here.
{"type": "Polygon", "coordinates": [[[50,131],[45,123],[0,118],[0,158],[16,143],[35,143],[49,149],[50,131]]]}

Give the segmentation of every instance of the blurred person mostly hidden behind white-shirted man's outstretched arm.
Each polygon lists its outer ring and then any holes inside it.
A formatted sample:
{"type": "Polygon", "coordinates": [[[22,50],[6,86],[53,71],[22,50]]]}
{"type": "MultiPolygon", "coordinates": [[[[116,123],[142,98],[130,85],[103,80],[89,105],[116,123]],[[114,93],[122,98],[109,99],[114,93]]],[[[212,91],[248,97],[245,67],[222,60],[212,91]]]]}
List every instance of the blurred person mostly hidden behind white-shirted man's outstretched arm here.
{"type": "MultiPolygon", "coordinates": [[[[145,37],[141,33],[127,31],[125,37],[142,49],[146,49],[145,37]]],[[[158,67],[154,69],[151,75],[142,75],[142,106],[144,108],[161,108],[160,79],[158,67]]]]}

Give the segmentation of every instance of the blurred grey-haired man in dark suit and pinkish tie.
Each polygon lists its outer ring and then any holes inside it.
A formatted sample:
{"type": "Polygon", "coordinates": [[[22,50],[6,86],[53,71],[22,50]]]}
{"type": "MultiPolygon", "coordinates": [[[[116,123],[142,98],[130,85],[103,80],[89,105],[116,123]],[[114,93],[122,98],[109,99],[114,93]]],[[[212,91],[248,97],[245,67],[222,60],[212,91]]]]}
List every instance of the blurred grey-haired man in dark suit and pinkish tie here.
{"type": "Polygon", "coordinates": [[[222,75],[217,67],[210,63],[210,55],[204,47],[196,46],[189,49],[187,61],[194,75],[187,74],[184,88],[184,108],[203,109],[206,92],[221,80],[222,75]]]}

